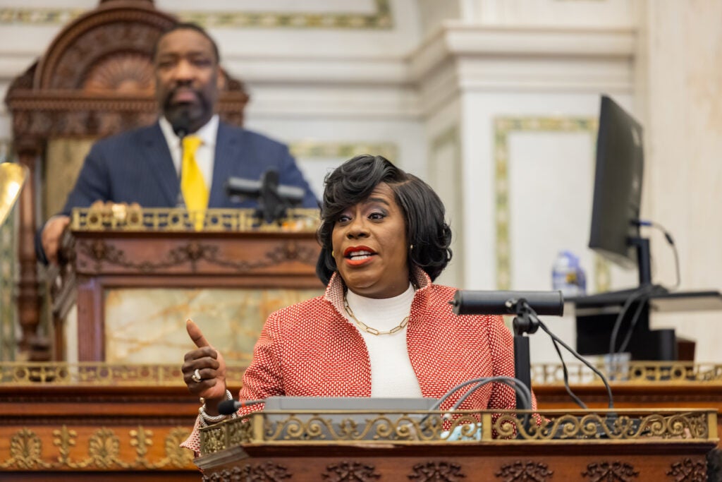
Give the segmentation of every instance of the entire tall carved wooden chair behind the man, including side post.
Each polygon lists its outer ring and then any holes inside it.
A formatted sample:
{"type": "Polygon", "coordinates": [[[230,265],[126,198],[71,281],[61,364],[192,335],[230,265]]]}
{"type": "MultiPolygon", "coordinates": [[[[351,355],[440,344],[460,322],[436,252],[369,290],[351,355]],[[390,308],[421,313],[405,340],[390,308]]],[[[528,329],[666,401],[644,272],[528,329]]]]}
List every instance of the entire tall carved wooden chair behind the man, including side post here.
{"type": "MultiPolygon", "coordinates": [[[[38,343],[43,280],[35,230],[61,210],[92,139],[155,121],[152,47],[175,22],[150,0],[100,1],[64,27],[9,87],[5,102],[12,113],[13,145],[32,179],[19,202],[17,298],[20,349],[30,351],[30,359],[49,356],[46,345],[38,343]]],[[[242,124],[248,101],[243,85],[222,74],[219,87],[222,119],[242,124]]]]}

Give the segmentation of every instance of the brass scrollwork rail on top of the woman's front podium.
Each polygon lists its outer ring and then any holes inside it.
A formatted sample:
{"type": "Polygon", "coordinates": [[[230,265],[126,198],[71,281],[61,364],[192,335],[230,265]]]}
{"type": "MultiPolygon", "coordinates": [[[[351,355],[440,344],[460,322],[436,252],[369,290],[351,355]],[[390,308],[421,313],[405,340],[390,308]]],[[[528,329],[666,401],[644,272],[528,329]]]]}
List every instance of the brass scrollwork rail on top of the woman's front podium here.
{"type": "Polygon", "coordinates": [[[201,453],[238,444],[438,444],[524,440],[547,443],[717,439],[715,410],[283,410],[254,412],[201,429],[201,453]]]}

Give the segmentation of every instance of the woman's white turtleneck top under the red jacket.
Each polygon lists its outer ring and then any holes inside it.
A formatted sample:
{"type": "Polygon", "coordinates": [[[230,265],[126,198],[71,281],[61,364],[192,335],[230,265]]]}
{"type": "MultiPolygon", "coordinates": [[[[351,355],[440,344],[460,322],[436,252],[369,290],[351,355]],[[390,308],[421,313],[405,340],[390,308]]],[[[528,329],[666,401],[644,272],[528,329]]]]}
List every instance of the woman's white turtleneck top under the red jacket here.
{"type": "MultiPolygon", "coordinates": [[[[409,316],[414,301],[414,287],[409,283],[409,289],[393,298],[365,298],[349,290],[346,299],[357,319],[380,332],[388,332],[409,316]]],[[[422,397],[406,348],[408,325],[393,335],[371,335],[362,330],[347,313],[344,312],[344,316],[366,342],[371,361],[371,396],[422,397]]]]}

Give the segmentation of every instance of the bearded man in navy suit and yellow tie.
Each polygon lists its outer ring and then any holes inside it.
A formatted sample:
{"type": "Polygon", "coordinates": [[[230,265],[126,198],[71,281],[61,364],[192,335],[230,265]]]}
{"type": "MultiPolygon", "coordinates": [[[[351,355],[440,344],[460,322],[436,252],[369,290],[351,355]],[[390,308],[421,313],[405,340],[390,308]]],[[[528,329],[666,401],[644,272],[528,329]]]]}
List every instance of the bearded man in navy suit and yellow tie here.
{"type": "Polygon", "coordinates": [[[257,207],[230,199],[223,185],[230,176],[258,180],[272,168],[279,184],[303,189],[303,207],[318,207],[287,146],[219,121],[219,51],[204,29],[175,25],[158,39],[152,60],[158,121],[93,145],[63,211],[36,236],[41,262],[57,261],[72,208],[97,201],[196,212],[257,207]]]}

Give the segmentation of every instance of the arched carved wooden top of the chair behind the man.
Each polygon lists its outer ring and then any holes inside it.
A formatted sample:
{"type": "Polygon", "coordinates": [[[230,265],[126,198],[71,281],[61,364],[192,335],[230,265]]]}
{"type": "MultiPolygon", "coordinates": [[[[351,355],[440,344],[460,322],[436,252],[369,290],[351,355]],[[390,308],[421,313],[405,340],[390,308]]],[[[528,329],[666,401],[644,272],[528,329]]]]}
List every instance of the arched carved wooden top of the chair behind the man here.
{"type": "MultiPolygon", "coordinates": [[[[148,0],[108,0],[67,25],[6,95],[14,145],[105,137],[157,118],[152,48],[177,20],[148,0]]],[[[248,95],[222,74],[219,113],[242,124],[248,95]]]]}

